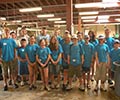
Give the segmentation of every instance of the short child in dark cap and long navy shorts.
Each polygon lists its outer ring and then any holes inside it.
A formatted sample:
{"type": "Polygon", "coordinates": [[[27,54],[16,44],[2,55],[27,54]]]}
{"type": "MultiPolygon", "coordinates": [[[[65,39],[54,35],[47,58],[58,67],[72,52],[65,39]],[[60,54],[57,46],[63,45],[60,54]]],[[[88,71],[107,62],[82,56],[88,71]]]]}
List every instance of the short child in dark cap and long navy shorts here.
{"type": "Polygon", "coordinates": [[[25,47],[26,47],[26,39],[21,39],[21,47],[18,49],[18,59],[20,61],[19,74],[21,76],[21,86],[24,85],[24,78],[26,80],[28,75],[28,63],[25,57],[25,47]]]}

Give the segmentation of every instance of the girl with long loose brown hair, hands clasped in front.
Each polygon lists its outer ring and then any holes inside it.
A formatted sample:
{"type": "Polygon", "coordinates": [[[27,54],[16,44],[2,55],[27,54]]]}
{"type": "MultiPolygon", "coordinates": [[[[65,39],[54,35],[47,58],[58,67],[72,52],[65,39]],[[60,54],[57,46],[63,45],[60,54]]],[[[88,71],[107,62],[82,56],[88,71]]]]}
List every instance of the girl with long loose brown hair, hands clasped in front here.
{"type": "Polygon", "coordinates": [[[55,88],[55,76],[57,76],[57,85],[56,88],[60,87],[60,70],[61,70],[61,64],[62,64],[62,47],[59,44],[57,37],[52,36],[50,39],[50,45],[49,48],[51,50],[51,66],[50,66],[50,74],[51,74],[51,80],[52,85],[51,87],[55,88]]]}

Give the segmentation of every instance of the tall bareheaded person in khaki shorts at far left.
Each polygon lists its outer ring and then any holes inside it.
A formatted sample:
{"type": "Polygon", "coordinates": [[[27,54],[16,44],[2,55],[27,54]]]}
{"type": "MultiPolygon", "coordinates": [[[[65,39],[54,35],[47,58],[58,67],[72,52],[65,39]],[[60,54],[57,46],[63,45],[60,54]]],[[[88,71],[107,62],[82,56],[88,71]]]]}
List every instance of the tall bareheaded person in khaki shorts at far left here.
{"type": "Polygon", "coordinates": [[[7,77],[8,70],[10,72],[13,87],[18,88],[16,84],[16,66],[14,61],[17,59],[16,48],[17,45],[15,41],[10,38],[10,29],[5,28],[5,38],[0,40],[0,56],[3,63],[2,72],[3,72],[3,80],[4,80],[4,91],[8,90],[7,77]]]}

